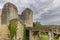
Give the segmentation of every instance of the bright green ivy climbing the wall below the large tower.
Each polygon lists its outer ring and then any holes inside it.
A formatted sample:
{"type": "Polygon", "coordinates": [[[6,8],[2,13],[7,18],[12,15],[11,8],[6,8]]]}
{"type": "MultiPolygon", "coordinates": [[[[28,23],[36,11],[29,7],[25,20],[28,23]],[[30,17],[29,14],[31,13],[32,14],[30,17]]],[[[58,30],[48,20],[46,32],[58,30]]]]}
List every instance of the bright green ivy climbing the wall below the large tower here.
{"type": "Polygon", "coordinates": [[[9,22],[9,31],[11,40],[14,40],[14,36],[16,36],[17,26],[18,26],[17,22],[12,20],[9,22]]]}

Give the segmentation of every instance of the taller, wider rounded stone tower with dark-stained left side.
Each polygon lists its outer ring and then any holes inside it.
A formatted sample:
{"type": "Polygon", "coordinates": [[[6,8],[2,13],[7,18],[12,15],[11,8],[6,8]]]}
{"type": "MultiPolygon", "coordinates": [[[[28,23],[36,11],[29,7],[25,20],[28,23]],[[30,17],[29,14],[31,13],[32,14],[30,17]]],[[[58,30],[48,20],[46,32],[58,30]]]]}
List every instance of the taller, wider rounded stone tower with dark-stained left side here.
{"type": "Polygon", "coordinates": [[[12,3],[6,3],[3,6],[1,16],[2,16],[2,18],[1,18],[2,24],[8,24],[9,20],[17,19],[18,18],[17,7],[15,5],[13,5],[12,3]]]}

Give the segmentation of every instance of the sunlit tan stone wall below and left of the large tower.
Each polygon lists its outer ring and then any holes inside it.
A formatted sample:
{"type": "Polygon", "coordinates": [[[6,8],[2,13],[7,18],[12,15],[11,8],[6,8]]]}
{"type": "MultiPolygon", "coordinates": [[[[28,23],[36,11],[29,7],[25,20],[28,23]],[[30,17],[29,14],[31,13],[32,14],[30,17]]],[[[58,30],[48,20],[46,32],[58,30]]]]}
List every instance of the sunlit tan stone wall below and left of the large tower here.
{"type": "Polygon", "coordinates": [[[0,10],[0,40],[9,40],[9,31],[6,25],[1,24],[1,14],[2,9],[0,10]]]}

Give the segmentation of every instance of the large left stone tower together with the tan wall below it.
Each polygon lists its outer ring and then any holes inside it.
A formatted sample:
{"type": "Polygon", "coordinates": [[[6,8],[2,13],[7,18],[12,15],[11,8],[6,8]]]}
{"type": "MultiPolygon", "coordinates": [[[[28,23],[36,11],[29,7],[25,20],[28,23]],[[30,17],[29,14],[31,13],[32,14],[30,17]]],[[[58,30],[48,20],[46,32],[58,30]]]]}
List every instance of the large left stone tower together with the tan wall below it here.
{"type": "MultiPolygon", "coordinates": [[[[3,6],[2,13],[0,16],[0,40],[9,40],[9,21],[18,19],[18,11],[15,5],[12,3],[6,3],[3,6]],[[8,25],[7,25],[8,24],[8,25]]],[[[17,32],[18,33],[18,32],[17,32]]]]}

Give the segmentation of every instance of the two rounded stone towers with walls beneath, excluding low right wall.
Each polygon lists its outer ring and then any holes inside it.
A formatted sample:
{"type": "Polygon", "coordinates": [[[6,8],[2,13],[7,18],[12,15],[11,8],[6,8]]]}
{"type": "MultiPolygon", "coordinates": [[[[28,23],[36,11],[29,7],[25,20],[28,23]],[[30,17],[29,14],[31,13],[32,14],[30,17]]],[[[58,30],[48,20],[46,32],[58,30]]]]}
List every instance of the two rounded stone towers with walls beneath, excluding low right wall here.
{"type": "Polygon", "coordinates": [[[9,21],[17,19],[17,39],[23,39],[24,24],[26,27],[33,27],[33,12],[30,9],[25,9],[20,17],[18,17],[17,7],[12,3],[6,3],[3,6],[2,13],[0,15],[0,40],[9,40],[9,21]]]}

